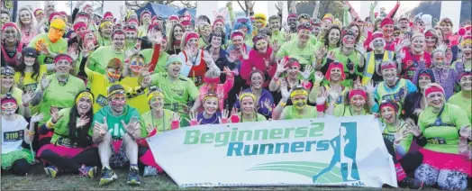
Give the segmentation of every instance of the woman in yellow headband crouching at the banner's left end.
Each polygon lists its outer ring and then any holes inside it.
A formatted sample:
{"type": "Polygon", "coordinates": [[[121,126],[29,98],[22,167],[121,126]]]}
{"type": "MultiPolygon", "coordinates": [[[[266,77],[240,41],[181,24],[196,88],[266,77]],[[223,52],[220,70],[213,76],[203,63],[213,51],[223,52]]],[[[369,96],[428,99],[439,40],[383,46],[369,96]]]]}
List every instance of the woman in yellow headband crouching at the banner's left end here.
{"type": "MultiPolygon", "coordinates": [[[[145,114],[141,114],[142,122],[146,125],[147,130],[141,132],[141,137],[152,137],[158,133],[178,129],[180,126],[180,117],[177,113],[164,109],[164,95],[157,86],[150,87],[148,104],[151,110],[145,114]]],[[[162,173],[164,170],[156,163],[146,139],[141,139],[137,142],[139,146],[138,157],[141,164],[145,166],[143,177],[162,173]]]]}

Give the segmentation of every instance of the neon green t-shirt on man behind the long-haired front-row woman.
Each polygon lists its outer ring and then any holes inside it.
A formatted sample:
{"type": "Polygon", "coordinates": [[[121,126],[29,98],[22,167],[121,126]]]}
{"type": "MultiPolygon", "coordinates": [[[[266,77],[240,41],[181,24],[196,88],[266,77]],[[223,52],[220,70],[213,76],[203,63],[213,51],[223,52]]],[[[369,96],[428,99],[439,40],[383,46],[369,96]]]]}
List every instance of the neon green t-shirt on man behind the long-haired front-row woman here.
{"type": "MultiPolygon", "coordinates": [[[[50,106],[57,106],[59,109],[72,107],[76,103],[76,96],[79,92],[86,90],[86,85],[82,79],[68,76],[68,82],[61,86],[56,74],[48,76],[50,86],[44,90],[40,112],[44,114],[40,125],[50,120],[50,106]]],[[[41,86],[37,87],[38,90],[41,86]]]]}

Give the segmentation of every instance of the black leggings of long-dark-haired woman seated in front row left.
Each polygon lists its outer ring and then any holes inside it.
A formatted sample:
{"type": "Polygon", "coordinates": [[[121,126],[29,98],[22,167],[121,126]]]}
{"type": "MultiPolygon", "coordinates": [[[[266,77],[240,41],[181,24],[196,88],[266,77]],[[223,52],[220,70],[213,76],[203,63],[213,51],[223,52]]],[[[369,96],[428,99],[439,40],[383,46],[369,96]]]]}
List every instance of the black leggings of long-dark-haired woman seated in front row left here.
{"type": "Polygon", "coordinates": [[[70,159],[61,157],[52,150],[43,150],[41,153],[41,159],[48,161],[50,164],[62,170],[67,170],[73,173],[78,173],[78,169],[81,168],[83,164],[91,167],[97,167],[101,164],[98,149],[95,147],[83,150],[70,159]]]}

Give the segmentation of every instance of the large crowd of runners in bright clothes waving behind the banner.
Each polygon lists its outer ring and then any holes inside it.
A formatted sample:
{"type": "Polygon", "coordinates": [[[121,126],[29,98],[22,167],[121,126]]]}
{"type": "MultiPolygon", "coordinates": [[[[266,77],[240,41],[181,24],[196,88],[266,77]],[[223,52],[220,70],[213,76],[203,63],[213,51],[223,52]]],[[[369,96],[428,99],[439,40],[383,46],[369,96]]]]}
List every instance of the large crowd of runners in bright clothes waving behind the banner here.
{"type": "MultiPolygon", "coordinates": [[[[374,114],[398,185],[472,182],[471,23],[431,15],[120,15],[78,1],[1,12],[2,171],[100,185],[164,173],[146,138],[199,124],[374,114]],[[70,19],[71,18],[71,19],[70,19]],[[213,23],[211,22],[213,21],[213,23]],[[453,32],[454,24],[460,24],[453,32]]],[[[295,6],[292,6],[295,7],[295,6]]],[[[380,136],[380,135],[379,135],[380,136]]]]}

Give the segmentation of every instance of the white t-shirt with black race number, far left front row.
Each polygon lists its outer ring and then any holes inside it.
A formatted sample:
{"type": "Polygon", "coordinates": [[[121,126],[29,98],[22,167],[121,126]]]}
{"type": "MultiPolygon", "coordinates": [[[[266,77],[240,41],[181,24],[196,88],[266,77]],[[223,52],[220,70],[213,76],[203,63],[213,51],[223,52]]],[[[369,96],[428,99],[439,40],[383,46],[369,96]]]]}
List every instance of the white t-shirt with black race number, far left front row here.
{"type": "Polygon", "coordinates": [[[24,136],[28,122],[22,115],[16,114],[16,120],[6,121],[2,117],[2,154],[15,150],[22,150],[24,136]]]}

